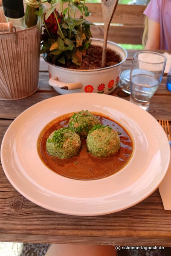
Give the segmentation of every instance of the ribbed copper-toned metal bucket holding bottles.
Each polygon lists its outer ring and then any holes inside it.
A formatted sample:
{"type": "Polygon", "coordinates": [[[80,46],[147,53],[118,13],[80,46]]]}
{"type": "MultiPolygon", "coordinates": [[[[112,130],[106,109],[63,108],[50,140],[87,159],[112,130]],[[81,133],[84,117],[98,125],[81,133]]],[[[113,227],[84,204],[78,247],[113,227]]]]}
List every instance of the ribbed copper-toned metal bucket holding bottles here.
{"type": "MultiPolygon", "coordinates": [[[[3,12],[0,17],[4,21],[3,12]]],[[[40,40],[36,26],[0,33],[0,99],[22,99],[38,90],[40,40]]]]}

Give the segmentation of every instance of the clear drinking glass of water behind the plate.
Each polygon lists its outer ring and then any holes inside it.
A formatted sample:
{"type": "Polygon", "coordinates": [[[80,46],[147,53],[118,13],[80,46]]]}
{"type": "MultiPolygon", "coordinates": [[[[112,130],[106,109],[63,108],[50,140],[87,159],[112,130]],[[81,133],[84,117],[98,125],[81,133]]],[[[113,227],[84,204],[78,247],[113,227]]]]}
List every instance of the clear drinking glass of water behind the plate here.
{"type": "Polygon", "coordinates": [[[130,102],[148,111],[165,70],[166,58],[157,52],[136,52],[130,69],[130,102]]]}

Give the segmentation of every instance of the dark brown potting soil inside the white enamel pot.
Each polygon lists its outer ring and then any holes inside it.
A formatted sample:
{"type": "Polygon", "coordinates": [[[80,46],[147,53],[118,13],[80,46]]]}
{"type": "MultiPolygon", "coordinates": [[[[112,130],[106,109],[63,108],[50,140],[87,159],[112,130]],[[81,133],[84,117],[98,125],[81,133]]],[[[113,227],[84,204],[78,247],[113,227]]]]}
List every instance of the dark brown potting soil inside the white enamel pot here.
{"type": "MultiPolygon", "coordinates": [[[[102,47],[90,45],[87,55],[83,57],[82,65],[78,66],[74,63],[61,64],[61,67],[76,70],[92,70],[101,68],[102,47]]],[[[121,62],[120,56],[113,50],[107,48],[105,67],[110,67],[121,62]]]]}

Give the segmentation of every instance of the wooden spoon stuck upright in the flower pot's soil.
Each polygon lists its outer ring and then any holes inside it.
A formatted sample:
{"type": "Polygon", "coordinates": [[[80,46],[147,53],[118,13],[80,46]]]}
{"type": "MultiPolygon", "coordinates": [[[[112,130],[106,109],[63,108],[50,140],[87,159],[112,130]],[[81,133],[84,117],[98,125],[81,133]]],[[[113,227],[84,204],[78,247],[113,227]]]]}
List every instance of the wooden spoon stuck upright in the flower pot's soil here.
{"type": "Polygon", "coordinates": [[[107,35],[109,31],[110,22],[113,18],[117,5],[118,5],[118,0],[101,0],[102,14],[103,14],[103,20],[104,20],[104,42],[103,42],[101,67],[104,67],[105,65],[107,35]]]}

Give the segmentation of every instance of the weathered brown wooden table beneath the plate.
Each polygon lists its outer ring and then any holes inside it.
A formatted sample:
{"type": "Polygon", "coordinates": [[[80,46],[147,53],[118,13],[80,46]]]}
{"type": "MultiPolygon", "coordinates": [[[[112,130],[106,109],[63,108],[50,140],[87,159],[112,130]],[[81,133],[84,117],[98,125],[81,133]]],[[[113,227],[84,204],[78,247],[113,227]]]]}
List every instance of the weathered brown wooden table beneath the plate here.
{"type": "MultiPolygon", "coordinates": [[[[133,53],[122,70],[130,68],[133,53]]],[[[0,141],[12,121],[25,109],[58,93],[48,85],[47,65],[41,59],[39,90],[25,99],[0,100],[0,141]]],[[[113,96],[129,96],[117,88],[113,96]]],[[[151,100],[156,119],[171,121],[171,92],[164,75],[151,100]]],[[[20,195],[0,165],[0,241],[68,244],[116,244],[171,247],[171,211],[163,209],[158,189],[135,206],[109,215],[81,217],[43,209],[20,195]]]]}

